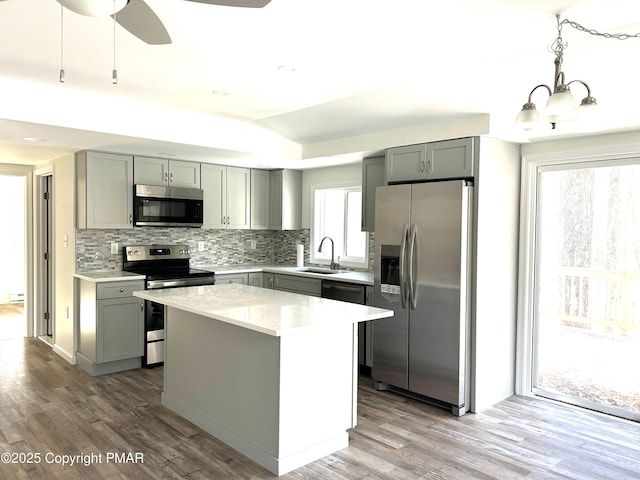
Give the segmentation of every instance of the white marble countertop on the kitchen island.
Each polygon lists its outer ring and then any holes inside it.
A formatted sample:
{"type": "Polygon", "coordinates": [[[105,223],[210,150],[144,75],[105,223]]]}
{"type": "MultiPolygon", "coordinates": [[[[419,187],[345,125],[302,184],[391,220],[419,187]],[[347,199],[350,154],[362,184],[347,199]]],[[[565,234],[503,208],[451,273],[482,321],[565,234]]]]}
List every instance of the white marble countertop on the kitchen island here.
{"type": "Polygon", "coordinates": [[[391,317],[392,310],[241,284],[144,290],[136,297],[272,336],[291,335],[336,322],[391,317]]]}

